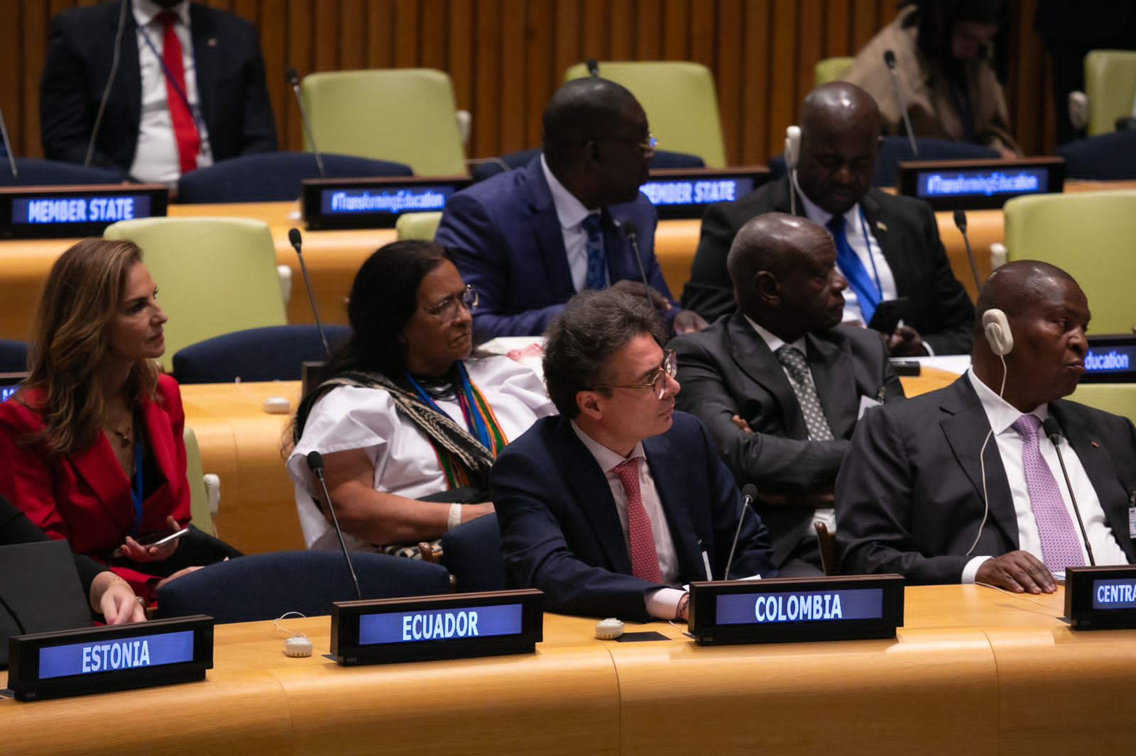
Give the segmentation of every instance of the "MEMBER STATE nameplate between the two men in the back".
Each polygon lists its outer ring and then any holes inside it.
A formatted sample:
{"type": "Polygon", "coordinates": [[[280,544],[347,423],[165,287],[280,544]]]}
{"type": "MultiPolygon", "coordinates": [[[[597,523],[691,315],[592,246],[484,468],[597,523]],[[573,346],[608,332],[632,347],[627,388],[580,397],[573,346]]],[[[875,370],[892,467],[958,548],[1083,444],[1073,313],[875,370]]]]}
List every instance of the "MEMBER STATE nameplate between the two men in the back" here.
{"type": "Polygon", "coordinates": [[[692,219],[701,218],[708,204],[740,200],[769,178],[769,169],[761,167],[652,170],[640,192],[651,201],[660,219],[692,219]]]}

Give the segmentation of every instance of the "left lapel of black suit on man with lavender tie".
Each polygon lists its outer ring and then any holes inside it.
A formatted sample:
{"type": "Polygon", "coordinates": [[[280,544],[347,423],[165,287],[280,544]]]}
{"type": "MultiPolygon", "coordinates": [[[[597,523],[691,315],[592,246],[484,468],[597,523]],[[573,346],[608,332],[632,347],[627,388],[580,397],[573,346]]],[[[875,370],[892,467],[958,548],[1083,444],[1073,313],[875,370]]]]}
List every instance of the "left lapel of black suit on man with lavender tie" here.
{"type": "MultiPolygon", "coordinates": [[[[949,417],[939,421],[946,440],[951,445],[959,467],[970,478],[978,501],[983,498],[983,468],[978,452],[986,442],[991,430],[989,420],[983,403],[970,385],[970,378],[961,376],[943,394],[941,409],[949,417]]],[[[986,460],[986,494],[989,506],[989,519],[994,521],[1009,537],[1010,543],[1018,544],[1018,515],[1010,497],[1010,481],[1005,477],[1002,455],[997,450],[997,440],[991,438],[983,454],[986,460]]]]}

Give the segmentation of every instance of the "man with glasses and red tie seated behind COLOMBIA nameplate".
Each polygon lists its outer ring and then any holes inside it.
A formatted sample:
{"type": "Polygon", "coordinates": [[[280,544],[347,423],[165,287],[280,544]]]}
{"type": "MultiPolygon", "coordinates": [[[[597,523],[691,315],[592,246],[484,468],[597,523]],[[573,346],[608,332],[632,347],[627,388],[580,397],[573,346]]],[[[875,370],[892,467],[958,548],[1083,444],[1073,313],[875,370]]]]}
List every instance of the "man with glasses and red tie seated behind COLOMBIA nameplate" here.
{"type": "Polygon", "coordinates": [[[490,476],[509,573],[549,611],[685,620],[684,583],[777,574],[761,521],[743,515],[738,531],[737,488],[705,428],[674,411],[662,339],[645,301],[612,289],[576,296],[549,328],[560,415],[509,444],[490,476]]]}

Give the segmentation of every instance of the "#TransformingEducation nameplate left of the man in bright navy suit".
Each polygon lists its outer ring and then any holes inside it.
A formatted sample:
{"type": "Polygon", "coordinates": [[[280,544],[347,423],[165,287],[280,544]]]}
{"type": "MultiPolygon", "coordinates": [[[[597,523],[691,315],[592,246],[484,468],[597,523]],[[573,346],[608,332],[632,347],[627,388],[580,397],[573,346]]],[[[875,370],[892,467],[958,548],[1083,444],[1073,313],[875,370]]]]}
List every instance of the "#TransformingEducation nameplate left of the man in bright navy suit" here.
{"type": "Polygon", "coordinates": [[[441,212],[469,183],[466,176],[312,178],[300,201],[309,229],[394,228],[403,213],[441,212]]]}

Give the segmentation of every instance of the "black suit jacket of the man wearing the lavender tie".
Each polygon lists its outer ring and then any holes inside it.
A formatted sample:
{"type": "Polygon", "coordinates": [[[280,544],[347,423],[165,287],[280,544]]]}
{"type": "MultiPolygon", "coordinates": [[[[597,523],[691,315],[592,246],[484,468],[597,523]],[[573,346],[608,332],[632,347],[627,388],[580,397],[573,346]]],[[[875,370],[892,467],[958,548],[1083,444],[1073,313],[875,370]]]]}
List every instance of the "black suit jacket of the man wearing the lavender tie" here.
{"type": "MultiPolygon", "coordinates": [[[[1136,486],[1136,430],[1108,412],[1059,400],[1050,412],[1101,499],[1129,562],[1128,490],[1136,486]]],[[[986,446],[989,515],[983,520],[978,451],[989,421],[969,378],[870,410],[836,479],[836,539],[845,573],[897,572],[912,583],[959,582],[975,555],[1018,548],[1010,484],[994,439],[986,446]]]]}

